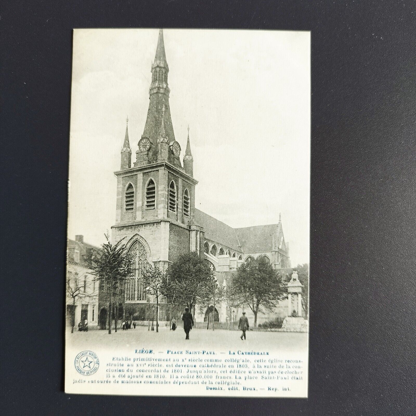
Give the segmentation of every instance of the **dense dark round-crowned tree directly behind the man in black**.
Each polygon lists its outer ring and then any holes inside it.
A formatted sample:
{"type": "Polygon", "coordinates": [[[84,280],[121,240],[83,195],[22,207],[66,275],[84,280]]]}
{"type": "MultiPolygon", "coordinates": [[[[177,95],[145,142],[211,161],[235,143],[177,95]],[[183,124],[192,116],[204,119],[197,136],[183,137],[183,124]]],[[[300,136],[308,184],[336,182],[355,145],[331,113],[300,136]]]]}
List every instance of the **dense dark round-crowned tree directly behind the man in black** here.
{"type": "Polygon", "coordinates": [[[187,305],[192,311],[212,275],[206,262],[195,252],[184,254],[168,267],[163,295],[169,300],[175,299],[178,304],[187,305]]]}

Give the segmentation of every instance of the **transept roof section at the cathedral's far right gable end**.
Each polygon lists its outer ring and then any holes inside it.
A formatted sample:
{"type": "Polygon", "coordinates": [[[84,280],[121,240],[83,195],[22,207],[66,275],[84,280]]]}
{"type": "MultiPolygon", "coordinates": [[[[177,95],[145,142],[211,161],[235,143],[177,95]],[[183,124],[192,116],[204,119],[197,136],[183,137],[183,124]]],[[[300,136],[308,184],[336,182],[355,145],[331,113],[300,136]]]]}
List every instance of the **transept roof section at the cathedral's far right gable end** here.
{"type": "MultiPolygon", "coordinates": [[[[253,227],[235,228],[244,253],[267,253],[273,247],[273,235],[278,236],[277,248],[283,237],[282,226],[279,224],[254,225],[253,227]]],[[[284,250],[285,248],[282,247],[284,250]]]]}

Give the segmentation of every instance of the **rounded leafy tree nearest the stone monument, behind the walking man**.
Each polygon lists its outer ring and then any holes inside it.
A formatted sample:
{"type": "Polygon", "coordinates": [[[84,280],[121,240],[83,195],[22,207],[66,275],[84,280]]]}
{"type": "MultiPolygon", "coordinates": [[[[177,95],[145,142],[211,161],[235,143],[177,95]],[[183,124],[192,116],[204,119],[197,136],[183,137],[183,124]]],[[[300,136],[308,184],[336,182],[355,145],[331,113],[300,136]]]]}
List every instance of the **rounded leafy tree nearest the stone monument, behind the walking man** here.
{"type": "Polygon", "coordinates": [[[273,310],[277,302],[286,295],[282,277],[262,256],[248,258],[238,268],[233,278],[233,287],[241,295],[243,304],[253,311],[255,327],[258,312],[262,309],[273,310]]]}

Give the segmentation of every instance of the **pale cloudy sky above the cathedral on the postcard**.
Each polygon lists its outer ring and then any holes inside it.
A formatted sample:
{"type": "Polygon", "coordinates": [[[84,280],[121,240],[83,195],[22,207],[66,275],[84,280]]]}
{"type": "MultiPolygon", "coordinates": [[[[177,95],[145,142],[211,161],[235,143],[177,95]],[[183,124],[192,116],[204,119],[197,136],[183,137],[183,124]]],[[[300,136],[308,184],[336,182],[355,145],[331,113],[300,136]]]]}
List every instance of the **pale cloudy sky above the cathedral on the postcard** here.
{"type": "MultiPolygon", "coordinates": [[[[190,126],[195,206],[232,227],[277,223],[309,262],[310,32],[163,30],[176,140],[190,126]]],[[[74,31],[68,236],[99,245],[115,223],[129,116],[132,162],[158,30],[74,31]]]]}

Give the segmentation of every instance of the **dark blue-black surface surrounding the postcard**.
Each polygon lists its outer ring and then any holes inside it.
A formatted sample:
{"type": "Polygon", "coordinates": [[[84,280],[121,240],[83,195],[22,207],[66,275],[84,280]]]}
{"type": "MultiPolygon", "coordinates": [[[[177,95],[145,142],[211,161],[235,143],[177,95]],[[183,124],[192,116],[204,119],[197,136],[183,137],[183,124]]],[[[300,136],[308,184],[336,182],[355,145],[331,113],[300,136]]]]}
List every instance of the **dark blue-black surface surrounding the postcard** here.
{"type": "Polygon", "coordinates": [[[6,414],[414,413],[414,2],[8,1],[0,15],[6,414]],[[312,31],[308,400],[62,392],[74,27],[312,31]]]}

